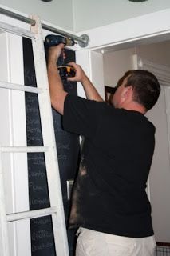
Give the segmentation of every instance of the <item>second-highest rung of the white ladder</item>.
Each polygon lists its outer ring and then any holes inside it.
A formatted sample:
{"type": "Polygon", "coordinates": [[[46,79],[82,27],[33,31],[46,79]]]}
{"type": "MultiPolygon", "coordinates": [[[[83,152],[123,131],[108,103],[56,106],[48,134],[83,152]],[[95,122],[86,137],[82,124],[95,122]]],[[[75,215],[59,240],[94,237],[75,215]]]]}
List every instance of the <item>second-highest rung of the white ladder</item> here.
{"type": "Polygon", "coordinates": [[[2,81],[0,81],[0,88],[11,89],[11,90],[22,90],[22,91],[27,91],[34,94],[40,94],[43,91],[42,89],[39,89],[37,87],[18,85],[18,84],[14,84],[10,82],[2,82],[2,81]]]}

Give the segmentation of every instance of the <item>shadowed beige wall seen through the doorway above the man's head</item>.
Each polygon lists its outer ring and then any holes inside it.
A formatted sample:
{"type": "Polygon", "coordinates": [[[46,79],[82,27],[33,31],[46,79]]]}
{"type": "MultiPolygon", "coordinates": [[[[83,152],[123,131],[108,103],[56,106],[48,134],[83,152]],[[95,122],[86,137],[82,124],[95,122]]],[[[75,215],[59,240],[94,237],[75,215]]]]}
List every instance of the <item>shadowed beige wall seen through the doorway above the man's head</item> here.
{"type": "Polygon", "coordinates": [[[170,41],[106,52],[103,55],[105,86],[116,86],[125,71],[132,69],[132,54],[138,54],[150,62],[170,66],[170,41]]]}

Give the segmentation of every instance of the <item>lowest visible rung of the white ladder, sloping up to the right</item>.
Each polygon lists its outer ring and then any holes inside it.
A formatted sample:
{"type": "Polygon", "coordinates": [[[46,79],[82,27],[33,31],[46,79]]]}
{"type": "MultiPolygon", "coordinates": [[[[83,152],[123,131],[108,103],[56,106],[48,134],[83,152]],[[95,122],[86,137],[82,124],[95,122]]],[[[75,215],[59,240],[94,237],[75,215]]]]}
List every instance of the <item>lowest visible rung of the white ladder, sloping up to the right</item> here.
{"type": "Polygon", "coordinates": [[[7,214],[6,218],[7,218],[7,222],[15,222],[15,221],[20,221],[22,219],[39,218],[39,217],[56,214],[56,213],[57,213],[57,208],[50,207],[50,208],[44,208],[40,210],[24,211],[16,214],[7,214]]]}

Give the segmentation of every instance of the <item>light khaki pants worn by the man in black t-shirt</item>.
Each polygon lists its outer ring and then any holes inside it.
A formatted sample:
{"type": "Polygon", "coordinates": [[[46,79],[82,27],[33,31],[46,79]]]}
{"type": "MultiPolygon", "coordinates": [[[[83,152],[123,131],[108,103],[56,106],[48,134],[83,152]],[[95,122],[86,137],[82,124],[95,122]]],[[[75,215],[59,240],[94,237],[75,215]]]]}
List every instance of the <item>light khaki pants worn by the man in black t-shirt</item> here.
{"type": "Polygon", "coordinates": [[[85,228],[77,231],[76,256],[153,256],[154,236],[126,238],[85,228]]]}

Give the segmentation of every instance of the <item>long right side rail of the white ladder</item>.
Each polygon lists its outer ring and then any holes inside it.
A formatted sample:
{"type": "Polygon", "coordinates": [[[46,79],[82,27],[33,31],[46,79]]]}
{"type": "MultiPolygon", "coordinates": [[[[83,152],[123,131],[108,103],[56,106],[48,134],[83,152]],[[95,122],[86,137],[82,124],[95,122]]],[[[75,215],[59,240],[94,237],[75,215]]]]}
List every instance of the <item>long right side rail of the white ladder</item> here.
{"type": "Polygon", "coordinates": [[[37,79],[37,86],[46,89],[44,94],[38,94],[40,117],[42,121],[42,138],[44,145],[51,146],[50,152],[45,152],[46,173],[49,187],[50,205],[57,207],[57,216],[53,214],[53,234],[55,247],[58,256],[68,256],[69,246],[67,241],[65,214],[61,194],[61,182],[57,162],[57,150],[53,129],[53,116],[49,98],[49,86],[45,64],[45,51],[42,40],[42,28],[38,17],[34,17],[36,26],[31,26],[35,33],[32,40],[34,51],[34,66],[37,79]]]}

